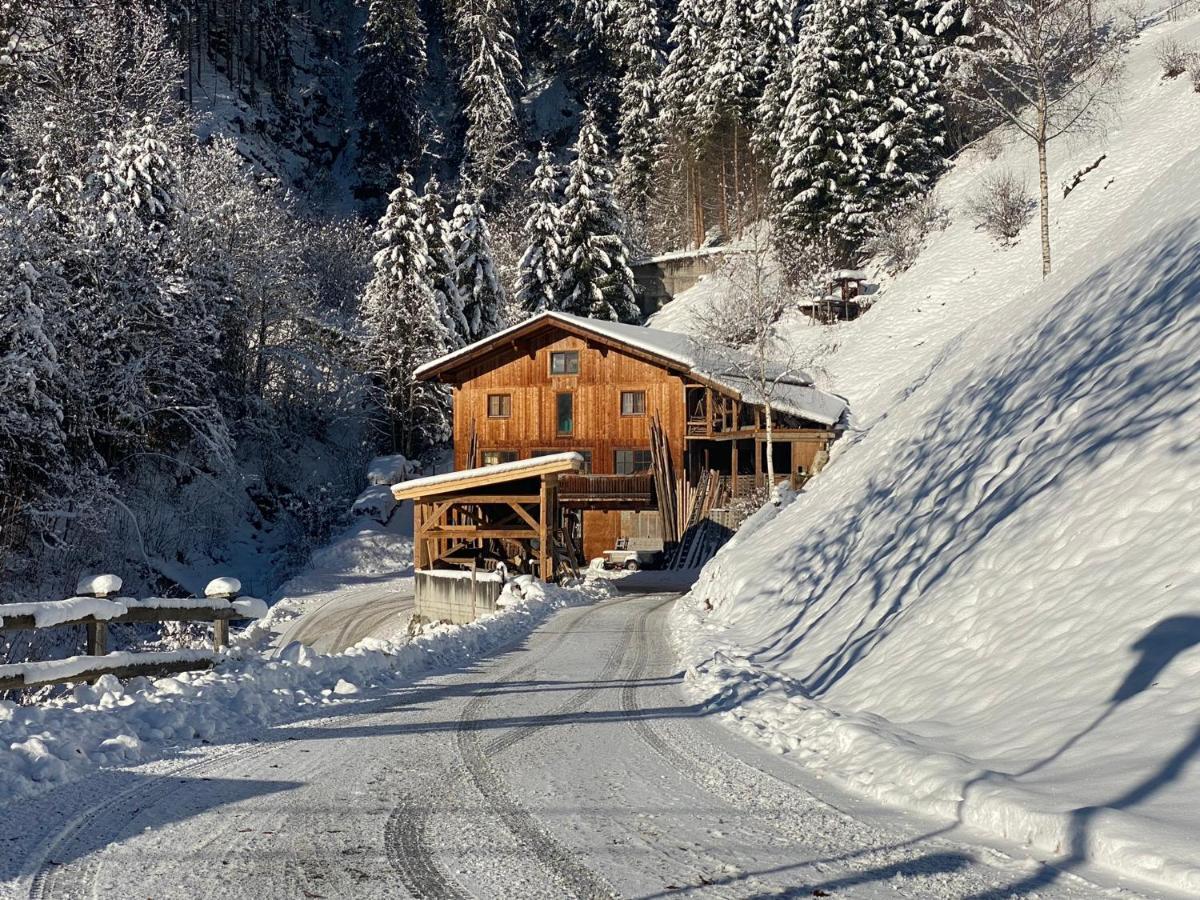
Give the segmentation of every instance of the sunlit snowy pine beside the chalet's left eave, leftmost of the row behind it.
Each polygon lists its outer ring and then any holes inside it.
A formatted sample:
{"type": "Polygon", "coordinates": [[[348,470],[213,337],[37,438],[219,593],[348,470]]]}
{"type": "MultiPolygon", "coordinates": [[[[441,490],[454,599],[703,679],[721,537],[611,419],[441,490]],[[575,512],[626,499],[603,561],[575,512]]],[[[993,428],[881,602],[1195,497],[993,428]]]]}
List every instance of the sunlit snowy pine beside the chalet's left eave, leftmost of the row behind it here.
{"type": "Polygon", "coordinates": [[[376,229],[374,274],[362,296],[370,368],[389,414],[392,450],[413,457],[449,433],[444,391],[413,378],[421,364],[443,355],[449,346],[430,290],[428,247],[420,218],[413,176],[402,172],[376,229]]]}

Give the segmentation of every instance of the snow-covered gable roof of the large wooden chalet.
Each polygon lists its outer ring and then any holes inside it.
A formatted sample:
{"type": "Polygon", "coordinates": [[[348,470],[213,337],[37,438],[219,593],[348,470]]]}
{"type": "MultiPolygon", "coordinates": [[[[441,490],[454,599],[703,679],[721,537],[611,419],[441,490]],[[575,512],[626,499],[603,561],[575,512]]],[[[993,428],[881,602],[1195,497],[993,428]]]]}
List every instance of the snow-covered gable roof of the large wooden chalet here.
{"type": "MultiPolygon", "coordinates": [[[[497,344],[545,326],[557,326],[570,334],[590,336],[605,343],[635,350],[636,355],[649,356],[665,368],[712,384],[743,402],[764,404],[756,384],[757,379],[748,377],[748,372],[756,371],[757,366],[751,365],[750,358],[745,354],[704,346],[689,335],[674,331],[589,319],[557,311],[538,313],[440,359],[426,362],[416,370],[415,376],[421,380],[438,378],[467,365],[497,344]]],[[[842,397],[816,388],[806,372],[787,367],[781,362],[768,362],[766,377],[775,385],[770,397],[772,407],[780,412],[833,425],[848,406],[842,397]]]]}

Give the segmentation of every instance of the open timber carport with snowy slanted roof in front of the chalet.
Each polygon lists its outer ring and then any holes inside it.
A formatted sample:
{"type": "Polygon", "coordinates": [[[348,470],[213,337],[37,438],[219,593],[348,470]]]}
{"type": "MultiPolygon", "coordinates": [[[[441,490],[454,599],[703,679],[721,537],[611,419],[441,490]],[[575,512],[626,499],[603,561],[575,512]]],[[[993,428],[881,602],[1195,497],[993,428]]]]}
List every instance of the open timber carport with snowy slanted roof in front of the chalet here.
{"type": "Polygon", "coordinates": [[[490,569],[553,581],[580,553],[563,527],[559,478],[583,467],[576,452],[415,479],[391,488],[413,502],[414,568],[490,569]]]}

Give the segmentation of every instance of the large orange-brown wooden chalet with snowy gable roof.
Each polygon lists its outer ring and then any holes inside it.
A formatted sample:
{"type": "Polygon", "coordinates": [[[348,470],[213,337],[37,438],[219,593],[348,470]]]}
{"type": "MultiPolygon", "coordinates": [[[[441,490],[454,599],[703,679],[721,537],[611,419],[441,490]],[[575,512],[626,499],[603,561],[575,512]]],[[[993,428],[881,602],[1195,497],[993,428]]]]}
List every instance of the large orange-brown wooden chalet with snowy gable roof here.
{"type": "MultiPolygon", "coordinates": [[[[730,510],[766,487],[767,472],[763,403],[744,364],[685,335],[547,312],[416,376],[450,386],[456,474],[482,473],[481,484],[488,484],[480,496],[502,498],[497,509],[509,509],[506,521],[528,532],[515,540],[536,541],[524,556],[540,558],[547,577],[556,568],[552,541],[582,557],[580,563],[629,541],[658,541],[680,563],[695,563],[702,559],[695,547],[689,556],[689,535],[707,521],[722,522],[726,534],[736,527],[730,510]],[[521,508],[535,493],[541,502],[545,482],[534,492],[532,481],[514,487],[524,492],[516,505],[503,498],[509,488],[498,481],[535,474],[528,468],[534,463],[514,463],[554,455],[562,461],[566,451],[578,455],[577,463],[548,473],[552,509],[541,506],[541,518],[532,505],[524,515],[521,508]],[[488,479],[487,467],[500,468],[488,479]],[[530,522],[541,529],[536,539],[530,522]]],[[[780,370],[773,378],[775,472],[798,485],[827,458],[846,402],[803,372],[780,370]]],[[[478,554],[492,532],[494,540],[508,540],[509,526],[493,527],[486,511],[472,520],[470,488],[460,485],[452,506],[444,505],[449,498],[422,496],[427,487],[396,486],[397,498],[421,502],[419,516],[437,520],[416,523],[419,547],[422,528],[437,541],[419,548],[419,566],[478,554]],[[448,520],[455,509],[460,518],[448,520]]]]}

